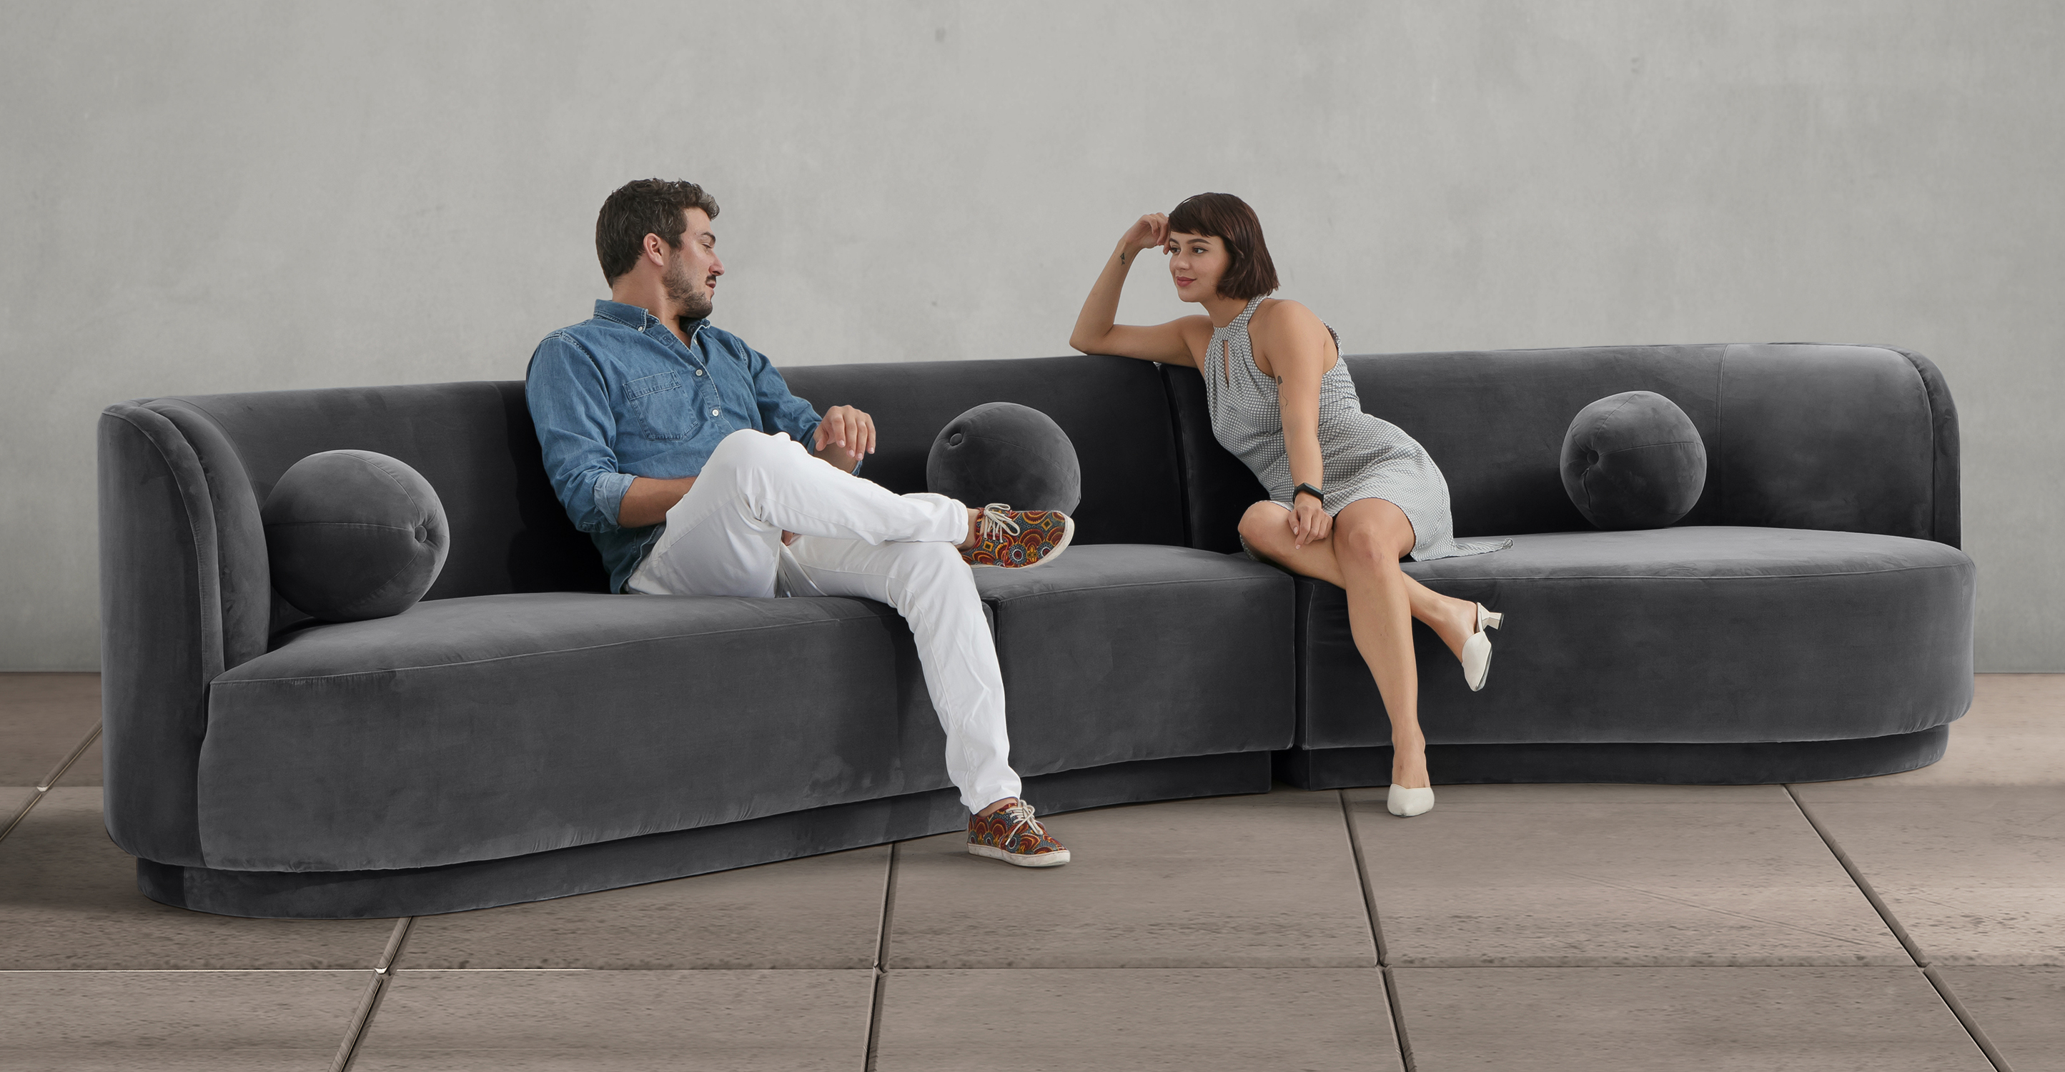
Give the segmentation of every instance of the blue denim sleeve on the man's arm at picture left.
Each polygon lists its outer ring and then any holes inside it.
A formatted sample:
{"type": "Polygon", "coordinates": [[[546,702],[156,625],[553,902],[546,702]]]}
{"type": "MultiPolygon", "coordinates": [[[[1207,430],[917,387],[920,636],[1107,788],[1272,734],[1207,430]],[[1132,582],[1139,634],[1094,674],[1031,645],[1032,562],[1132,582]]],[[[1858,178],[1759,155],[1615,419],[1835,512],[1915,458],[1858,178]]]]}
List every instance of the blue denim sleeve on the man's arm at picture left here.
{"type": "Polygon", "coordinates": [[[615,415],[601,366],[566,335],[547,335],[531,353],[525,403],[545,454],[545,475],[582,533],[622,529],[617,514],[632,475],[617,471],[615,415]]]}

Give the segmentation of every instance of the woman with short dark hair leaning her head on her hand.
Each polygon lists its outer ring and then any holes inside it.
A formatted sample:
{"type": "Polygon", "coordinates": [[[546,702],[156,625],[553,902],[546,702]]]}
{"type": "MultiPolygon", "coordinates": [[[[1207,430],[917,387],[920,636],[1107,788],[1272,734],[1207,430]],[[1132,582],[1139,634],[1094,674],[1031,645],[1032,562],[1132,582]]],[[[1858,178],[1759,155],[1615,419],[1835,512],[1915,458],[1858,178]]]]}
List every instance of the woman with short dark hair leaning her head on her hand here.
{"type": "Polygon", "coordinates": [[[1501,616],[1429,591],[1398,560],[1485,554],[1512,541],[1454,539],[1448,481],[1433,459],[1398,425],[1363,413],[1340,364],[1340,337],[1305,306],[1266,297],[1274,289],[1276,266],[1256,211],[1233,194],[1198,194],[1127,227],[1068,343],[1204,374],[1212,436],[1270,494],[1241,516],[1241,545],[1348,593],[1355,647],[1392,719],[1388,803],[1394,816],[1417,816],[1433,808],[1433,787],[1412,620],[1441,636],[1479,690],[1491,669],[1485,630],[1499,628],[1501,616]],[[1113,324],[1127,269],[1156,246],[1169,256],[1175,295],[1204,306],[1204,316],[1113,324]]]}

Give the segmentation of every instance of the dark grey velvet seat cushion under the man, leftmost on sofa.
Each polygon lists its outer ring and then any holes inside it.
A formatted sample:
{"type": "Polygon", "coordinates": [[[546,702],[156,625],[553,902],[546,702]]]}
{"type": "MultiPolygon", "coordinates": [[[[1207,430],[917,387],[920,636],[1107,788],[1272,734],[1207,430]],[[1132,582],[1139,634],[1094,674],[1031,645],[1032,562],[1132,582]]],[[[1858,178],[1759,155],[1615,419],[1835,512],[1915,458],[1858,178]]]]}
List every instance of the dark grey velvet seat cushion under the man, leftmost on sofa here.
{"type": "Polygon", "coordinates": [[[496,859],[948,785],[865,599],[520,593],[293,632],[211,686],[211,868],[496,859]]]}

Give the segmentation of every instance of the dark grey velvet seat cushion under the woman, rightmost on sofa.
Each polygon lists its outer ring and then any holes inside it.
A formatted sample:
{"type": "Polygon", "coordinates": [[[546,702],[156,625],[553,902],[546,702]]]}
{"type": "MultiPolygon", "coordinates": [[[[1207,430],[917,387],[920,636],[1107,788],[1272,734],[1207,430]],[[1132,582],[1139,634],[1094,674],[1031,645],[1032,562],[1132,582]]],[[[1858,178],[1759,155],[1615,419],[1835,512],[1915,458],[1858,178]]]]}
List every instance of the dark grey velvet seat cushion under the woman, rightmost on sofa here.
{"type": "MultiPolygon", "coordinates": [[[[1972,560],[1945,543],[1749,527],[1538,533],[1404,570],[1505,613],[1483,692],[1415,624],[1431,744],[1879,737],[1943,725],[1972,698],[1972,560]]],[[[1297,593],[1299,744],[1390,744],[1344,593],[1309,578],[1297,593]]]]}

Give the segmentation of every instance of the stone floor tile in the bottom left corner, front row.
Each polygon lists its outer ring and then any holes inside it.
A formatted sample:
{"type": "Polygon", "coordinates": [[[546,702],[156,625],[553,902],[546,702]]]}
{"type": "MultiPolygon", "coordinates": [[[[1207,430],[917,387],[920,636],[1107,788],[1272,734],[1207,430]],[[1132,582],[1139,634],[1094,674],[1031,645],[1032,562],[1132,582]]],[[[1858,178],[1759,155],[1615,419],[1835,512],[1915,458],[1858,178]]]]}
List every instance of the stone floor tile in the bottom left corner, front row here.
{"type": "Polygon", "coordinates": [[[0,1068],[330,1068],[368,971],[0,971],[0,1068]]]}

